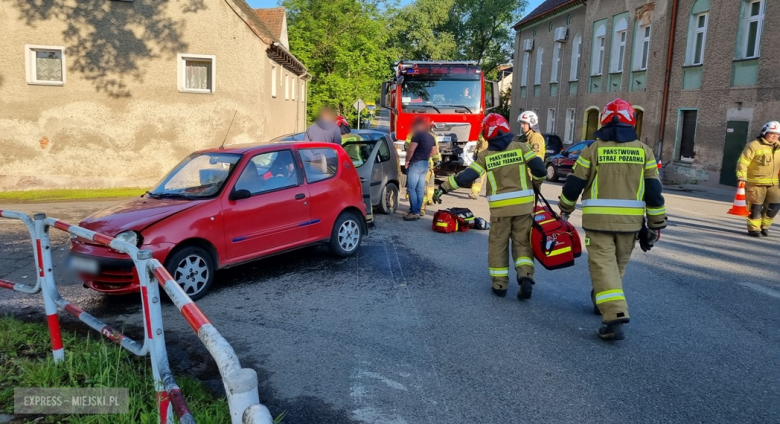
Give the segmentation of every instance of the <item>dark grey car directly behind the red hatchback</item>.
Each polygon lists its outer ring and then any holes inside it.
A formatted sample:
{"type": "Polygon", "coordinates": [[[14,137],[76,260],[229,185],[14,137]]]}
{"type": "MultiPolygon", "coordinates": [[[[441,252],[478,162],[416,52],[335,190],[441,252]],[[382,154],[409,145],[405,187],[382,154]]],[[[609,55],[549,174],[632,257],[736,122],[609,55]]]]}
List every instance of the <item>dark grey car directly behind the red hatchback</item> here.
{"type": "MultiPolygon", "coordinates": [[[[342,145],[357,168],[363,193],[370,194],[370,205],[382,213],[393,214],[398,208],[398,188],[401,181],[401,165],[390,135],[376,130],[352,130],[361,140],[342,145]]],[[[297,141],[303,133],[289,134],[272,140],[297,141]]]]}

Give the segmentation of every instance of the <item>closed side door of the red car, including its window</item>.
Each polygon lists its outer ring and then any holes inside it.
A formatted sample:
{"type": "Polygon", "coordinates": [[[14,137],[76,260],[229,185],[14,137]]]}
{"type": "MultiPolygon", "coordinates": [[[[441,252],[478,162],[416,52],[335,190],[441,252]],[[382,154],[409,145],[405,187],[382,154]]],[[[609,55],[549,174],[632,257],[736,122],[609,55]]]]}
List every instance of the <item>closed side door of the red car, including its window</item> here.
{"type": "Polygon", "coordinates": [[[293,150],[248,158],[231,190],[247,190],[250,197],[224,200],[228,260],[284,250],[308,238],[309,193],[293,150]]]}

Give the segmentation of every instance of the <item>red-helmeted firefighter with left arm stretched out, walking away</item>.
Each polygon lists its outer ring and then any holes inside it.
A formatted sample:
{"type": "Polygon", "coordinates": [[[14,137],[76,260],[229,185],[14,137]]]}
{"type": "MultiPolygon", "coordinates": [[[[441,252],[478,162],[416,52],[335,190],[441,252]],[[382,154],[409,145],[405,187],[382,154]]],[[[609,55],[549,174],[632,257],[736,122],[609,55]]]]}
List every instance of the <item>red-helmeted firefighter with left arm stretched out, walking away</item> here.
{"type": "Polygon", "coordinates": [[[506,296],[509,285],[509,240],[517,270],[520,291],[517,298],[530,299],[534,285],[534,261],[531,249],[534,186],[541,184],[546,173],[544,162],[525,143],[512,141],[509,123],[503,116],[491,113],[482,121],[482,135],[487,150],[458,175],[451,176],[436,190],[434,202],[441,196],[487,174],[490,233],[488,235],[488,270],[493,293],[506,296]],[[533,178],[525,169],[528,168],[533,178]],[[519,171],[519,172],[518,172],[519,171]]]}

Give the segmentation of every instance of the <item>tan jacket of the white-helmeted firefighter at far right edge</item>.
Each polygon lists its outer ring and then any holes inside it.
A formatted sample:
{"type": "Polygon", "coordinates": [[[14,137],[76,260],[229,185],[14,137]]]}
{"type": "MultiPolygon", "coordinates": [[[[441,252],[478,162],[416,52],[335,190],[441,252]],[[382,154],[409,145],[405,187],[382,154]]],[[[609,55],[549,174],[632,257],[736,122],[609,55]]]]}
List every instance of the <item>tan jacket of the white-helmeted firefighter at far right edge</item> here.
{"type": "Polygon", "coordinates": [[[780,143],[769,144],[760,137],[745,146],[737,162],[737,178],[753,185],[778,185],[780,143]]]}

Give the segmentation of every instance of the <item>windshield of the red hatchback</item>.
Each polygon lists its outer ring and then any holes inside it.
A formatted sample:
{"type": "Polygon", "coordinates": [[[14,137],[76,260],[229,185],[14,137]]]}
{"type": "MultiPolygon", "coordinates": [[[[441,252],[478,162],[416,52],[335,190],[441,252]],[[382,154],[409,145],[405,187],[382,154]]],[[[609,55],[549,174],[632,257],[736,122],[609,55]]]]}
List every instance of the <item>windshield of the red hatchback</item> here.
{"type": "Polygon", "coordinates": [[[179,162],[151,192],[150,197],[198,199],[219,193],[241,155],[194,153],[179,162]]]}

